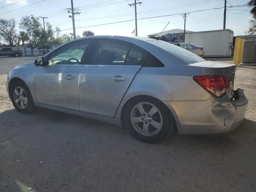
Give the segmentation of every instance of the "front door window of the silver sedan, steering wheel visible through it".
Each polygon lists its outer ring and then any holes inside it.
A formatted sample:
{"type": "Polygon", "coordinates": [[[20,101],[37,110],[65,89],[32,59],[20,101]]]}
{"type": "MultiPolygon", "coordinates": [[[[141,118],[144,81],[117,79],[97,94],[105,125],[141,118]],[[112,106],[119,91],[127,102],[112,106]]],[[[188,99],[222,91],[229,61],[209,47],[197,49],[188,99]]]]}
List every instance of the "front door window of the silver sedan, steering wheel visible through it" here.
{"type": "Polygon", "coordinates": [[[49,65],[80,64],[82,56],[86,53],[89,40],[82,40],[67,44],[50,54],[49,65]]]}

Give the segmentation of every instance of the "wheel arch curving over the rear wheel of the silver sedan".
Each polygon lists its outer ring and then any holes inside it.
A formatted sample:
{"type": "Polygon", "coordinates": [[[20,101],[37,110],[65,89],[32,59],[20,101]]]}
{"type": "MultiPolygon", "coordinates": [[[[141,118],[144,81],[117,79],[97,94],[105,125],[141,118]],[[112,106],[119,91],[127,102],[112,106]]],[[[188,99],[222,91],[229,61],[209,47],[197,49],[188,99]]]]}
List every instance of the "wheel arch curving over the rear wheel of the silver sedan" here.
{"type": "Polygon", "coordinates": [[[174,130],[175,130],[175,132],[177,132],[180,123],[179,123],[179,120],[178,120],[178,116],[177,116],[176,112],[174,111],[174,109],[172,108],[172,106],[167,106],[164,102],[162,102],[162,101],[159,100],[158,98],[153,97],[153,96],[149,96],[149,95],[136,95],[136,96],[133,96],[133,97],[129,98],[129,99],[124,103],[124,105],[122,106],[121,114],[120,114],[121,126],[124,127],[124,128],[126,128],[126,125],[125,125],[125,123],[124,123],[124,111],[125,111],[126,106],[129,104],[129,102],[130,102],[131,100],[134,100],[134,99],[137,99],[137,98],[145,98],[145,97],[158,100],[158,101],[160,101],[162,104],[164,104],[164,106],[166,106],[166,110],[168,111],[168,113],[169,113],[169,115],[170,115],[170,118],[172,118],[172,119],[174,120],[174,122],[172,121],[172,126],[174,126],[174,130]]]}

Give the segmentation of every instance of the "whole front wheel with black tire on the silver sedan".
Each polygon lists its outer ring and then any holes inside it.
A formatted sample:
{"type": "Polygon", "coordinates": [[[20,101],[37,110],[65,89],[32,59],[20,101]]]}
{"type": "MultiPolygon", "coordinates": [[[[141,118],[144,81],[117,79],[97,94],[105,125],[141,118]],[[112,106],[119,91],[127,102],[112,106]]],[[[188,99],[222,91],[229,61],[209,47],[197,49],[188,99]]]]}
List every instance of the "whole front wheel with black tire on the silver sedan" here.
{"type": "Polygon", "coordinates": [[[34,101],[28,86],[22,81],[14,82],[10,88],[10,98],[18,112],[31,113],[35,109],[34,101]]]}

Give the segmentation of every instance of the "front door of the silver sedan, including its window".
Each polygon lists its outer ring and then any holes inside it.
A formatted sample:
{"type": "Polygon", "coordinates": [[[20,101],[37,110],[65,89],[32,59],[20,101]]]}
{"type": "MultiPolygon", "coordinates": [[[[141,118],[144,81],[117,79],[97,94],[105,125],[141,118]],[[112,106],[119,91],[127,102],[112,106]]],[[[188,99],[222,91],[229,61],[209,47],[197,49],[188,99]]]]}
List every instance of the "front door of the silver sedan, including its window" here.
{"type": "Polygon", "coordinates": [[[38,104],[79,111],[78,73],[88,44],[89,40],[66,44],[45,58],[48,65],[38,66],[34,76],[38,104]]]}

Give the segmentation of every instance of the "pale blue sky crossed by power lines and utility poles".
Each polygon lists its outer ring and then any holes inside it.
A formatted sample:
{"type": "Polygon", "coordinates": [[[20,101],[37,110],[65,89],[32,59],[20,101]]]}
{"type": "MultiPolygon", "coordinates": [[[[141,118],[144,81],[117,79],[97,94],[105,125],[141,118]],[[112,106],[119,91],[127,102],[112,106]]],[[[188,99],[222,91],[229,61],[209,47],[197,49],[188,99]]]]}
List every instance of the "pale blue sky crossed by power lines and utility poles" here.
{"type": "MultiPolygon", "coordinates": [[[[25,15],[45,15],[48,16],[46,21],[50,22],[54,27],[58,26],[61,30],[63,30],[62,34],[66,32],[73,32],[73,30],[65,30],[72,28],[72,20],[68,17],[70,14],[64,10],[65,8],[71,7],[70,0],[41,1],[42,0],[0,0],[0,18],[14,18],[17,22],[19,22],[21,17],[25,15]],[[18,3],[12,4],[14,2],[18,3]],[[40,3],[34,4],[37,2],[40,3]],[[34,5],[28,6],[30,4],[34,5]],[[6,5],[10,6],[1,8],[2,6],[6,5]],[[28,7],[21,8],[24,6],[28,7]]],[[[76,27],[119,22],[124,20],[132,20],[135,18],[134,7],[128,6],[129,3],[134,3],[134,0],[106,1],[107,0],[73,0],[74,7],[84,6],[82,8],[78,8],[80,9],[79,12],[81,13],[80,15],[75,16],[76,27]],[[104,6],[102,6],[103,4],[104,6]]],[[[228,0],[229,4],[227,4],[227,6],[230,6],[230,4],[232,6],[242,5],[248,1],[249,0],[228,0]]],[[[169,21],[170,24],[167,26],[166,30],[171,30],[174,28],[184,29],[184,21],[180,13],[218,7],[221,8],[224,6],[224,0],[137,0],[137,2],[142,2],[141,5],[137,6],[137,18],[178,14],[175,16],[138,20],[138,36],[147,36],[148,34],[160,32],[169,21]]],[[[244,31],[246,31],[250,25],[249,20],[251,18],[251,14],[249,11],[246,11],[249,10],[249,8],[243,7],[228,9],[232,10],[227,10],[226,29],[233,30],[234,35],[244,34],[244,31]]],[[[186,30],[206,31],[222,29],[223,12],[224,8],[190,13],[187,17],[186,30]]],[[[117,24],[80,28],[76,29],[76,34],[81,35],[84,30],[92,30],[96,35],[130,36],[134,28],[135,21],[129,21],[117,24]]],[[[20,30],[18,28],[18,24],[17,30],[20,30]]]]}

